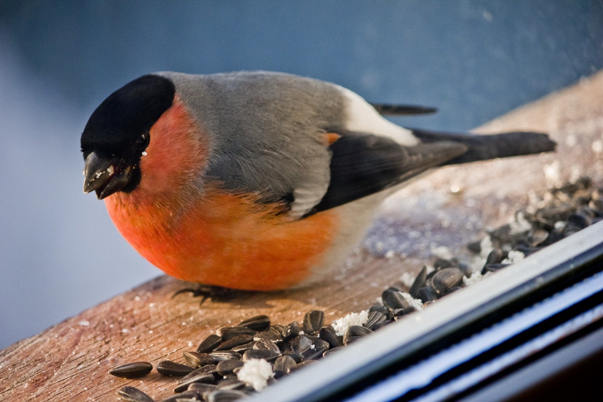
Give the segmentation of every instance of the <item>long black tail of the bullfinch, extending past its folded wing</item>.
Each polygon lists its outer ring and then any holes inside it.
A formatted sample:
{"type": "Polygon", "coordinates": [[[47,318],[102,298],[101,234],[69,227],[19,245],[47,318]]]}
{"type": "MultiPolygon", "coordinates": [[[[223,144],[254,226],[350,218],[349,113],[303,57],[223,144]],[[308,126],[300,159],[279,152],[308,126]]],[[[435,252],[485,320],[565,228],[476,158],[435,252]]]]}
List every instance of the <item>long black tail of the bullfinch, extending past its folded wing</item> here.
{"type": "Polygon", "coordinates": [[[446,165],[552,152],[557,145],[547,134],[533,132],[478,135],[412,129],[412,133],[422,142],[455,141],[467,145],[466,153],[450,159],[445,163],[446,165]]]}

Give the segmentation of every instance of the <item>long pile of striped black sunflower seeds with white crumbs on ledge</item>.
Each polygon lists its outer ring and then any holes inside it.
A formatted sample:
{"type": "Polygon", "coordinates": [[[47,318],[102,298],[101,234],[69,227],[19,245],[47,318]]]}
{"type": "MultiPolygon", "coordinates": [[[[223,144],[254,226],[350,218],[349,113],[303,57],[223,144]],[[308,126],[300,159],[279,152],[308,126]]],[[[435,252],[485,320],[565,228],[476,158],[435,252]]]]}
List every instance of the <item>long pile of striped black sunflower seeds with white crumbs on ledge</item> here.
{"type": "MultiPolygon", "coordinates": [[[[386,289],[368,311],[348,314],[324,326],[324,312],[308,311],[303,323],[271,324],[262,315],[223,327],[208,336],[195,351],[184,351],[186,364],[165,360],[155,369],[178,377],[175,395],[163,402],[238,400],[261,391],[278,378],[327,357],[363,336],[485,276],[521,260],[603,219],[603,188],[593,188],[589,177],[555,188],[545,199],[519,211],[513,222],[500,226],[481,241],[469,244],[473,263],[438,258],[423,267],[408,293],[402,286],[386,289]]],[[[128,363],[109,371],[117,377],[142,377],[153,370],[147,362],[128,363]]],[[[131,402],[153,402],[139,389],[127,386],[119,397],[131,402]]]]}

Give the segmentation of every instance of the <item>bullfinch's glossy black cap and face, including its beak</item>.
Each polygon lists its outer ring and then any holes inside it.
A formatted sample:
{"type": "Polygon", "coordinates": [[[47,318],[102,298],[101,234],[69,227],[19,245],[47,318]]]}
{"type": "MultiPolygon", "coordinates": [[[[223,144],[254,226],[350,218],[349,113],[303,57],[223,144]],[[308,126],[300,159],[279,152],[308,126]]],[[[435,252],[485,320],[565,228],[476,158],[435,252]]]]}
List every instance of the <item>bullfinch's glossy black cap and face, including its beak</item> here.
{"type": "Polygon", "coordinates": [[[101,198],[136,187],[140,156],[153,141],[149,130],[172,106],[174,95],[171,80],[149,74],[122,86],[96,108],[81,135],[84,191],[95,190],[101,198]]]}

